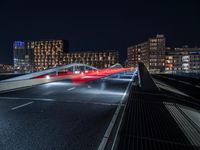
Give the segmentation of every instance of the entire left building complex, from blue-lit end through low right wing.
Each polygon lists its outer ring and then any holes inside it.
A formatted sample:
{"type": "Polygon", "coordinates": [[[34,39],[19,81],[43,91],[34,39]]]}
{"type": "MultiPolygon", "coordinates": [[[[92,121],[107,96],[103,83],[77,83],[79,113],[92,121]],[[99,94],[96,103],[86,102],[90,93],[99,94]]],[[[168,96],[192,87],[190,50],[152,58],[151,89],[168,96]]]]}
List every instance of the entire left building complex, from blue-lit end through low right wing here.
{"type": "Polygon", "coordinates": [[[69,52],[65,40],[15,41],[14,69],[17,72],[34,72],[71,63],[83,63],[107,68],[118,63],[118,51],[69,52]]]}

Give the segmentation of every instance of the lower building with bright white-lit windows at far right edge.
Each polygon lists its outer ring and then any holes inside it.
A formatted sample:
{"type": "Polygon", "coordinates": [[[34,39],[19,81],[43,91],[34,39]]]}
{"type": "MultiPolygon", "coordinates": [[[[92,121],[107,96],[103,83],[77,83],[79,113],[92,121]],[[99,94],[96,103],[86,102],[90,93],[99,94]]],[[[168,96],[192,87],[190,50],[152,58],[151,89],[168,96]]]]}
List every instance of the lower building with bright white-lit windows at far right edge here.
{"type": "Polygon", "coordinates": [[[200,48],[166,48],[165,71],[200,73],[200,48]]]}

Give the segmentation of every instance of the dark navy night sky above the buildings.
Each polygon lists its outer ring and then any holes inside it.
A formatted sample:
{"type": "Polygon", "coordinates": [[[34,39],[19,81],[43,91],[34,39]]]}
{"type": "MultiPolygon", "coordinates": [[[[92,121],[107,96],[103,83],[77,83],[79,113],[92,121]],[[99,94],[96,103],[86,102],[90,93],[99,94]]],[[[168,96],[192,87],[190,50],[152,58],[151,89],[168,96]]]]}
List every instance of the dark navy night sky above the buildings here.
{"type": "Polygon", "coordinates": [[[71,51],[117,49],[164,34],[168,46],[200,47],[198,0],[1,0],[0,63],[14,40],[60,38],[71,51]]]}

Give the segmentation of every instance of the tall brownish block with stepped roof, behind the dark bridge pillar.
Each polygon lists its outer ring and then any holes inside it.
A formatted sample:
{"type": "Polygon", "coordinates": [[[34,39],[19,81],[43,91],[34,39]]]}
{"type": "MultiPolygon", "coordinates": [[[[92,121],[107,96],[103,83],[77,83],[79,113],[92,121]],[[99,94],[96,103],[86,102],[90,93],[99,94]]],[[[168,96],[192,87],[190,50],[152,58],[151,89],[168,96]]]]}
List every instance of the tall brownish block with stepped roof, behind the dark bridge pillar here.
{"type": "Polygon", "coordinates": [[[136,67],[138,62],[143,62],[153,72],[165,69],[165,37],[157,35],[146,42],[128,48],[128,64],[136,67]]]}

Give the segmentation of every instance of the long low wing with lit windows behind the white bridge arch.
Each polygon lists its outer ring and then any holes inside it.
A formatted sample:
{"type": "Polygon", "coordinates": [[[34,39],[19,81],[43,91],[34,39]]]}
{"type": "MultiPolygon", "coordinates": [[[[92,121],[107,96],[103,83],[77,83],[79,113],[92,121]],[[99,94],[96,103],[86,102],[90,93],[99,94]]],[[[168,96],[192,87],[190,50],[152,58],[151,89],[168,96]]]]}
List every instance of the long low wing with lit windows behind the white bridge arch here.
{"type": "Polygon", "coordinates": [[[99,52],[71,52],[65,53],[65,64],[83,63],[97,68],[107,68],[118,63],[118,51],[108,50],[99,52]]]}

